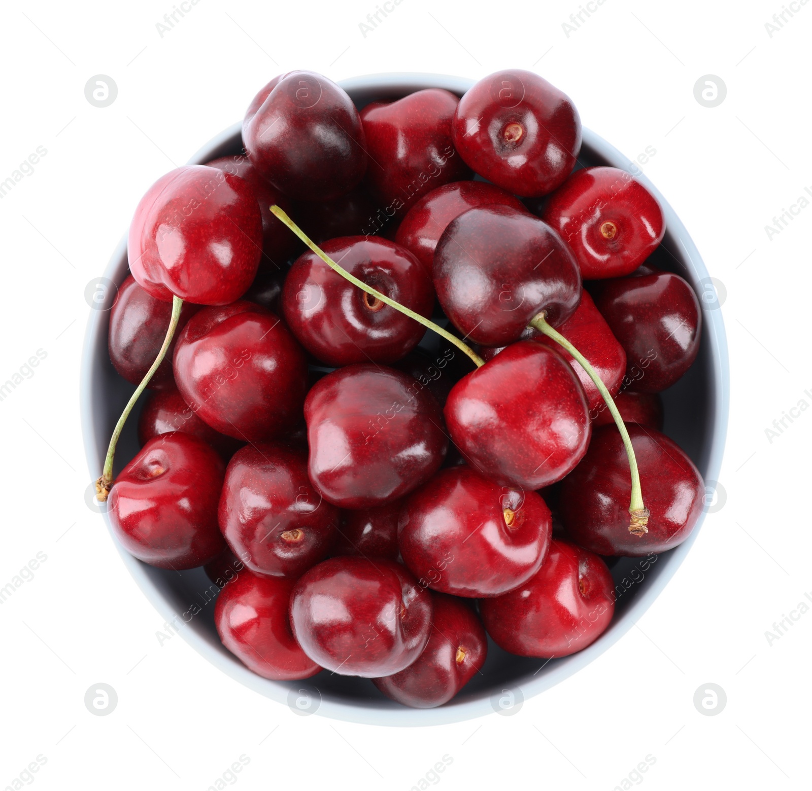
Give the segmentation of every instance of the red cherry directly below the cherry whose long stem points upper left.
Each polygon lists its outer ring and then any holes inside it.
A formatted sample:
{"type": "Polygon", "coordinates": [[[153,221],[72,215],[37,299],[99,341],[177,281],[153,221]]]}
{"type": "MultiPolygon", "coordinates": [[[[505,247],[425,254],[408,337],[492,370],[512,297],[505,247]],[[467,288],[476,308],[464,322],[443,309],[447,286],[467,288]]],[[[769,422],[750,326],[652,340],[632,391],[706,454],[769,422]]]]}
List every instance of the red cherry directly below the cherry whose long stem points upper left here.
{"type": "Polygon", "coordinates": [[[408,497],[398,544],[421,585],[479,598],[532,577],[551,530],[550,509],[536,492],[499,486],[469,466],[455,466],[408,497]]]}

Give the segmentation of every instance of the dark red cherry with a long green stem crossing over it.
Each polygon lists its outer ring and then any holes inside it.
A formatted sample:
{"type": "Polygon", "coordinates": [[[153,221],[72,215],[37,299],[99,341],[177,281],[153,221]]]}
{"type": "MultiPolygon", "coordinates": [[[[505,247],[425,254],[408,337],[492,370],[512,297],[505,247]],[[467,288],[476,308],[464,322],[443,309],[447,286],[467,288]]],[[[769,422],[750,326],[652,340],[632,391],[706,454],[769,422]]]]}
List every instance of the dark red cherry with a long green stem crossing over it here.
{"type": "MultiPolygon", "coordinates": [[[[408,250],[387,239],[348,236],[322,250],[343,269],[421,316],[430,316],[434,287],[408,250]]],[[[392,363],[407,355],[425,327],[334,272],[306,251],[282,291],[287,325],[314,357],[328,365],[392,363]]]]}

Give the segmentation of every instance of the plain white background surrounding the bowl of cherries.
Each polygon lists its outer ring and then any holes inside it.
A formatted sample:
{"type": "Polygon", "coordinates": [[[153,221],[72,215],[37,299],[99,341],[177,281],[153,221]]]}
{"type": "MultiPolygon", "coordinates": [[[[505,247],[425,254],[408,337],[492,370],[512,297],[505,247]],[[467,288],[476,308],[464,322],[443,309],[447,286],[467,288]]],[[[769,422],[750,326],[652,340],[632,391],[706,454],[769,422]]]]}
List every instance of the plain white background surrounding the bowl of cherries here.
{"type": "Polygon", "coordinates": [[[47,154],[0,200],[0,380],[37,349],[47,357],[0,402],[0,587],[37,552],[47,560],[0,605],[0,788],[37,754],[38,789],[203,791],[241,754],[241,789],[409,789],[444,754],[443,788],[613,789],[646,755],[647,789],[808,787],[812,613],[765,637],[812,595],[812,411],[765,434],[799,400],[812,404],[812,208],[772,239],[765,230],[812,189],[812,3],[793,6],[770,37],[780,0],[606,0],[567,37],[577,0],[402,0],[364,37],[375,0],[200,0],[161,37],[172,0],[3,3],[0,181],[37,146],[47,154]],[[162,619],[84,504],[84,287],[146,188],[242,118],[280,71],[476,78],[505,67],[564,89],[628,157],[656,149],[644,170],[727,292],[727,501],[637,628],[516,716],[426,729],[294,716],[182,638],[158,644],[162,619]],[[97,74],[119,89],[104,109],[84,97],[97,74]],[[711,109],[693,96],[707,74],[728,90],[711,109]],[[84,707],[99,681],[119,695],[110,716],[84,707]],[[706,682],[727,694],[719,716],[693,706],[706,682]]]}

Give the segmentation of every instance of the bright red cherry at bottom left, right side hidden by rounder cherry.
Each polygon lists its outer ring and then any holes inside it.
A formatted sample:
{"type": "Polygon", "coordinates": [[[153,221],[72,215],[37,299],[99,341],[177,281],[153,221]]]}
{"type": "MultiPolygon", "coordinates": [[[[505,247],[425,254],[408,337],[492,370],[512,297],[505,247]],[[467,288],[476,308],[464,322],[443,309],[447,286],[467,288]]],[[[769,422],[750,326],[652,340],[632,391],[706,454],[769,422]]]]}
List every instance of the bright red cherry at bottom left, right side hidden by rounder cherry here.
{"type": "Polygon", "coordinates": [[[274,681],[309,678],[320,668],[291,631],[292,580],[245,571],[220,591],[214,625],[222,644],[254,673],[274,681]]]}

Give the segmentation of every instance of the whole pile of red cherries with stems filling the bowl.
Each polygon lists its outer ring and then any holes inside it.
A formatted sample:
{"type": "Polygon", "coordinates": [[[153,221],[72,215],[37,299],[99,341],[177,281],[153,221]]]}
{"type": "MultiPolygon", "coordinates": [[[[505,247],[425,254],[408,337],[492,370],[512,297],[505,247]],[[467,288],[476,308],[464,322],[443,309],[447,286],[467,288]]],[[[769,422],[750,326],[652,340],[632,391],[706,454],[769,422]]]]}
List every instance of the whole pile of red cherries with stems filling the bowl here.
{"type": "Polygon", "coordinates": [[[577,110],[527,71],[360,114],[289,72],[243,140],[132,221],[110,359],[133,403],[153,393],[140,453],[113,481],[119,425],[97,484],[123,546],[205,565],[222,643],[270,679],[326,668],[434,707],[486,634],[589,646],[614,610],[601,556],[670,549],[702,509],[661,433],[701,313],[645,263],[657,200],[581,168],[577,110]]]}

